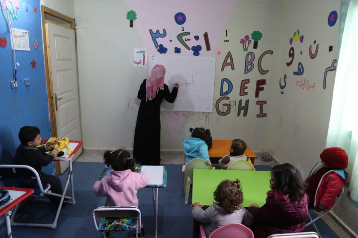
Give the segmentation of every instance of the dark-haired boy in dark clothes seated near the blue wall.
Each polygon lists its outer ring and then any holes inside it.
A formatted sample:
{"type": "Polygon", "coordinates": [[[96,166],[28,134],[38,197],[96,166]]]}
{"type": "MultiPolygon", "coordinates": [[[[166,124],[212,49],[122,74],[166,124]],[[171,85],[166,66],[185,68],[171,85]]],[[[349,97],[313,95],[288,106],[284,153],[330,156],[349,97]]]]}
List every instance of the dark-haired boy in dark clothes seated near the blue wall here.
{"type": "MultiPolygon", "coordinates": [[[[42,166],[49,165],[58,151],[52,146],[37,147],[41,143],[40,129],[36,126],[24,126],[20,128],[18,133],[21,144],[15,152],[15,163],[17,165],[28,165],[34,168],[40,176],[42,184],[49,183],[51,185],[51,192],[62,194],[62,185],[60,179],[55,175],[48,175],[42,172],[42,166]],[[51,151],[46,154],[45,152],[51,151]]],[[[36,181],[26,181],[22,183],[25,187],[36,187],[36,181]]],[[[48,199],[55,205],[61,201],[61,197],[47,196],[48,199]]]]}

